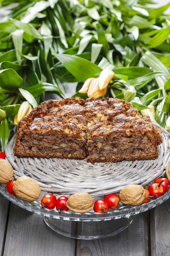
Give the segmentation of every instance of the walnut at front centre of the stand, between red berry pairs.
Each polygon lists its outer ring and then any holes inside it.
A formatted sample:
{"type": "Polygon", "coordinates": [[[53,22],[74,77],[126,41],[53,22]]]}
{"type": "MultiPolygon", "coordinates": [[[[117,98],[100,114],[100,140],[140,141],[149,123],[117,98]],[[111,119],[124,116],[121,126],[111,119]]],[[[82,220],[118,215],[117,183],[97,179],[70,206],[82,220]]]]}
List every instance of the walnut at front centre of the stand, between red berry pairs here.
{"type": "Polygon", "coordinates": [[[88,193],[76,193],[68,198],[66,206],[72,212],[84,213],[93,209],[94,201],[88,193]]]}

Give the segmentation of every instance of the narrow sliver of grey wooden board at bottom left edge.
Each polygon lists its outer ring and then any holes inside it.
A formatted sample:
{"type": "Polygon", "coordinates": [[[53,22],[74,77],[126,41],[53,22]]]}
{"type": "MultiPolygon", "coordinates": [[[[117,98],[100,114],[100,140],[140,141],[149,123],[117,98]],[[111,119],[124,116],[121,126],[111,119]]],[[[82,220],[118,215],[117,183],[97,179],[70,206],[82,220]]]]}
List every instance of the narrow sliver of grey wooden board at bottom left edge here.
{"type": "Polygon", "coordinates": [[[9,201],[0,195],[0,253],[3,248],[9,201]]]}

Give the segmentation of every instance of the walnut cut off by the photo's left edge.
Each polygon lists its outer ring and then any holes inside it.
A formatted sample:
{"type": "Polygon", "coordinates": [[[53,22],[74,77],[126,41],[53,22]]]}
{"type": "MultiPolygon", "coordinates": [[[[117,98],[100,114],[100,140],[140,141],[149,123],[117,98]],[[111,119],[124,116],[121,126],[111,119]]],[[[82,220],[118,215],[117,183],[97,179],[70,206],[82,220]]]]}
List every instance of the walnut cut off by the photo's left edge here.
{"type": "Polygon", "coordinates": [[[14,171],[11,164],[4,159],[0,159],[0,183],[8,183],[12,180],[13,175],[14,171]]]}

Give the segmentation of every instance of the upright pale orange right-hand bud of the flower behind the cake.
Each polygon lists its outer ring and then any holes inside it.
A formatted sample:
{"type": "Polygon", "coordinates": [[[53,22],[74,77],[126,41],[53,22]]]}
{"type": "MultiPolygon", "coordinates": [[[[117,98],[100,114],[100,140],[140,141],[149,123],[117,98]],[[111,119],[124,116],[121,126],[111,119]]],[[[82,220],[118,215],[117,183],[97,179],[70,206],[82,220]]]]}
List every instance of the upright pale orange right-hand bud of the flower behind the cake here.
{"type": "Polygon", "coordinates": [[[111,79],[115,76],[115,73],[111,69],[102,70],[99,75],[99,90],[107,88],[111,79]]]}

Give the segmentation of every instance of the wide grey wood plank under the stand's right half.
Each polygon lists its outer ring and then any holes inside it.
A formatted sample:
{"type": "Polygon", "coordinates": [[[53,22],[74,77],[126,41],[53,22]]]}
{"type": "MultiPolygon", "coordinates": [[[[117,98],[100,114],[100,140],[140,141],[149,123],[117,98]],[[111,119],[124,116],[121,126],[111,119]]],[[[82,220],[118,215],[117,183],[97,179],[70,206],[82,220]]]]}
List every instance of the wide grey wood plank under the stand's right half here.
{"type": "Polygon", "coordinates": [[[132,224],[116,236],[79,240],[77,256],[148,256],[147,212],[134,216],[132,224]]]}

